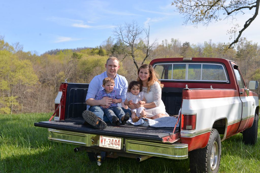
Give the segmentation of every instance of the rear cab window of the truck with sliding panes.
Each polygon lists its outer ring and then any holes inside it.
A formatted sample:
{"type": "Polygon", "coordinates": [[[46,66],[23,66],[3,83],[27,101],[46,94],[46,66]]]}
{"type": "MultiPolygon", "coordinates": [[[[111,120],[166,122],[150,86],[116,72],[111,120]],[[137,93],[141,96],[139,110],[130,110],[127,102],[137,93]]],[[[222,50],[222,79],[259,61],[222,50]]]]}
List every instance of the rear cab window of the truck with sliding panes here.
{"type": "Polygon", "coordinates": [[[154,66],[160,80],[228,82],[226,70],[217,63],[158,63],[154,66]]]}

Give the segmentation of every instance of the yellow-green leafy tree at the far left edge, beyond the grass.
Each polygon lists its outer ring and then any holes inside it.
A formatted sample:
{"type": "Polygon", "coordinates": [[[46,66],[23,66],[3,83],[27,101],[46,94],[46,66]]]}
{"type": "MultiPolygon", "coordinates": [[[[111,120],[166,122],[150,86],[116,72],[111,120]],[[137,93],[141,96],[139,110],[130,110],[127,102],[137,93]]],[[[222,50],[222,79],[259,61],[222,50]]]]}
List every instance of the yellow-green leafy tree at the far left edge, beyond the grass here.
{"type": "Polygon", "coordinates": [[[28,60],[19,60],[7,50],[0,51],[0,64],[0,90],[3,98],[0,100],[3,105],[1,111],[6,113],[9,107],[12,113],[13,107],[18,105],[18,99],[23,111],[24,95],[38,81],[32,64],[28,60]]]}

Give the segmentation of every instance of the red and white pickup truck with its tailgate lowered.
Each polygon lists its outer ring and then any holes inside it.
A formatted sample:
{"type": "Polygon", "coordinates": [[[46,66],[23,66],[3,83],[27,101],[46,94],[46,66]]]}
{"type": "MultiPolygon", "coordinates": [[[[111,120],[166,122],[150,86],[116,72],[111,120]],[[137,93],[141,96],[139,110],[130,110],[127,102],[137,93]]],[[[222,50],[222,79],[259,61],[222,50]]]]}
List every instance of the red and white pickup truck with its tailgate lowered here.
{"type": "Polygon", "coordinates": [[[74,151],[86,151],[98,165],[105,157],[136,158],[138,162],[152,156],[189,157],[191,172],[217,172],[221,141],[243,133],[245,144],[256,143],[259,100],[249,89],[257,89],[258,82],[250,81],[247,86],[234,61],[163,58],[150,64],[164,84],[166,112],[178,117],[180,125],[154,128],[107,123],[106,129],[94,129],[82,124],[88,84],[67,82],[60,85],[55,99],[54,121],[34,125],[48,128],[51,141],[79,146],[74,151]]]}

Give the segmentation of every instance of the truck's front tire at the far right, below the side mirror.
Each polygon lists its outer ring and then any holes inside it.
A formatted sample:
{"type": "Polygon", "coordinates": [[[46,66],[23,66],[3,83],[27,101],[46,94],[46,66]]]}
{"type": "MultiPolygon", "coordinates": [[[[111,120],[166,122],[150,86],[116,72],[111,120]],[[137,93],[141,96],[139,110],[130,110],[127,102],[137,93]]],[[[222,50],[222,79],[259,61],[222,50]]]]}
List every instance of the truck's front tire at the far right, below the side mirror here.
{"type": "Polygon", "coordinates": [[[245,144],[255,145],[257,142],[258,116],[255,114],[252,127],[243,131],[243,142],[245,144]]]}

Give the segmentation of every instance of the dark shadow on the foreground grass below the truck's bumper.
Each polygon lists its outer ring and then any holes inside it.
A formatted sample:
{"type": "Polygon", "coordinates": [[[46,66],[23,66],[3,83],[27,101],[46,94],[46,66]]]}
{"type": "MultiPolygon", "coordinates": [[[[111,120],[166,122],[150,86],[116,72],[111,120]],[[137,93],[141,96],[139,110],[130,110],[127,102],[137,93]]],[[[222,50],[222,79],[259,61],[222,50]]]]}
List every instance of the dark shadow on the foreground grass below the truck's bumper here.
{"type": "Polygon", "coordinates": [[[2,172],[189,172],[187,159],[159,157],[139,163],[133,158],[106,158],[101,166],[97,166],[89,161],[86,152],[74,153],[74,147],[59,143],[49,150],[36,149],[30,154],[11,155],[2,159],[2,172]]]}

